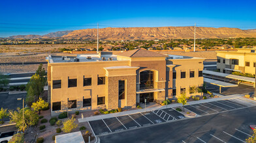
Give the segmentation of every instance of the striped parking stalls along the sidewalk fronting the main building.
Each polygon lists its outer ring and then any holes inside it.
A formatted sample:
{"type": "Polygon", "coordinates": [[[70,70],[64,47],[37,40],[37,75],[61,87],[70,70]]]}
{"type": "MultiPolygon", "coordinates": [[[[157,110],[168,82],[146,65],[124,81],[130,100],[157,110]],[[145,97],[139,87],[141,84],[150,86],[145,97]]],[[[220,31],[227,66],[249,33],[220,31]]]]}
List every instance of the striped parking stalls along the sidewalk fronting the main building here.
{"type": "MultiPolygon", "coordinates": [[[[253,103],[249,103],[244,99],[234,98],[195,105],[186,105],[185,108],[202,116],[206,114],[214,114],[217,112],[242,109],[244,107],[251,106],[253,106],[253,103]]],[[[136,114],[128,114],[125,116],[117,116],[114,118],[89,121],[89,123],[95,135],[104,135],[106,133],[118,132],[126,129],[134,129],[157,123],[172,122],[173,120],[185,118],[184,114],[174,109],[175,107],[152,110],[149,112],[140,112],[136,114]]]]}

